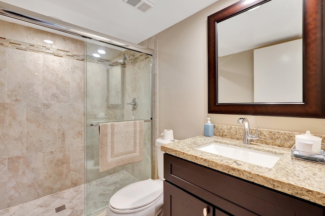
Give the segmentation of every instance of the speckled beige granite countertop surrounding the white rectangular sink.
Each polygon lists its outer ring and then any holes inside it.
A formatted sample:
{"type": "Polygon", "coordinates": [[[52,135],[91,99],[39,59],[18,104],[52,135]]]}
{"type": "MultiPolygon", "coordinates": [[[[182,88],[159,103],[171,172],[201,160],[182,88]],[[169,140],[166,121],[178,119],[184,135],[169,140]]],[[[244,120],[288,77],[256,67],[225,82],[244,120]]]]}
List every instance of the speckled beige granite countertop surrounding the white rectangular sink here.
{"type": "Polygon", "coordinates": [[[245,145],[239,140],[198,136],[162,145],[161,151],[325,206],[325,164],[291,159],[289,148],[258,143],[245,145]],[[282,157],[272,168],[266,168],[196,149],[212,142],[269,152],[282,157]]]}

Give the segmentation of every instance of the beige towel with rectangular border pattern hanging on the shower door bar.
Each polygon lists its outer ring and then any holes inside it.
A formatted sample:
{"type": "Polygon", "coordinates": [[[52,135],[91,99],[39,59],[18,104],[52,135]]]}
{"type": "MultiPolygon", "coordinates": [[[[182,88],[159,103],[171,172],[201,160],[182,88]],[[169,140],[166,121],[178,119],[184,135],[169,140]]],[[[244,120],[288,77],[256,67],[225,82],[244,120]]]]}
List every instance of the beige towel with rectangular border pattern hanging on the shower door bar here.
{"type": "Polygon", "coordinates": [[[100,124],[100,171],[143,159],[144,121],[100,124]]]}

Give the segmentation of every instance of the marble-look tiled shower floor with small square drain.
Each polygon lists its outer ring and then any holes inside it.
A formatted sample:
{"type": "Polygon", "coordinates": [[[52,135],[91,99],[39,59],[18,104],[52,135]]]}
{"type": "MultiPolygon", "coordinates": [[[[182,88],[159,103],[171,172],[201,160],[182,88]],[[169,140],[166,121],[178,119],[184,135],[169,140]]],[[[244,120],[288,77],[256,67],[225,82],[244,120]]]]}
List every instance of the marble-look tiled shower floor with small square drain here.
{"type": "MultiPolygon", "coordinates": [[[[88,183],[87,208],[95,213],[108,206],[112,195],[122,187],[138,182],[126,171],[88,183]]],[[[55,194],[41,197],[20,205],[0,210],[2,216],[84,216],[85,185],[80,185],[55,194]],[[66,209],[55,213],[55,208],[66,205],[66,209]]]]}

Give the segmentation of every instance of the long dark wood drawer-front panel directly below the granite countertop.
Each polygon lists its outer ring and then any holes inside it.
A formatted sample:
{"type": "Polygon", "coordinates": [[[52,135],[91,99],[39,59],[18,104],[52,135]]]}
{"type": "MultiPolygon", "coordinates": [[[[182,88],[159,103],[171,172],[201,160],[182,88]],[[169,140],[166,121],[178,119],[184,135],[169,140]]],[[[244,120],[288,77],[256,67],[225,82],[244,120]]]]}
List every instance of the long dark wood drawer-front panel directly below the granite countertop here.
{"type": "Polygon", "coordinates": [[[164,177],[210,203],[216,215],[217,209],[222,209],[221,213],[236,216],[325,216],[324,206],[168,154],[164,156],[164,177]]]}

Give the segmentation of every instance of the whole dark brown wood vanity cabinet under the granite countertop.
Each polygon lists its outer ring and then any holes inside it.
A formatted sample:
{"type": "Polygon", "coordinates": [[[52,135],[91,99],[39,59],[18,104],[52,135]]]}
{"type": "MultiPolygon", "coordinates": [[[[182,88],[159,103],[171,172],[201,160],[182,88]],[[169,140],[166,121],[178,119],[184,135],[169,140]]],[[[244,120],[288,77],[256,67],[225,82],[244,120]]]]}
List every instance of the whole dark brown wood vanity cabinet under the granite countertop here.
{"type": "Polygon", "coordinates": [[[322,216],[323,206],[164,154],[164,215],[322,216]]]}

